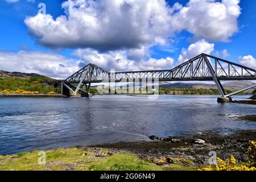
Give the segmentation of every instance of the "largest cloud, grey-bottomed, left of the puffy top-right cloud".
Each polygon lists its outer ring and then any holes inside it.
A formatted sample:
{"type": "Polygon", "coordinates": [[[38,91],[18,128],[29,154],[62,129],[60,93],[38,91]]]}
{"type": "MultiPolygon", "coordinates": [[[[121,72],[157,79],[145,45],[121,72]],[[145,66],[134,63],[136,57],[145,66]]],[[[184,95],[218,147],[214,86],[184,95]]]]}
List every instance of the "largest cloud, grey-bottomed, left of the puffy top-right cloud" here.
{"type": "Polygon", "coordinates": [[[173,32],[164,0],[68,0],[62,7],[67,16],[54,20],[49,14],[38,14],[24,21],[44,46],[139,48],[163,44],[162,37],[173,32]]]}

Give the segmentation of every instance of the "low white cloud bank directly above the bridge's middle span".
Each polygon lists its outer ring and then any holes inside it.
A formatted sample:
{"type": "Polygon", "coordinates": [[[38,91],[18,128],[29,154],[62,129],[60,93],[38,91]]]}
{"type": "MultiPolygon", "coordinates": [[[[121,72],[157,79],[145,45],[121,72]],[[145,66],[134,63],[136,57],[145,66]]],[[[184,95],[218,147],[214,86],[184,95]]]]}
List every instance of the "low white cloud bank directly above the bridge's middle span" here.
{"type": "Polygon", "coordinates": [[[127,51],[109,51],[108,53],[100,53],[94,49],[77,49],[73,55],[84,60],[84,64],[96,64],[105,69],[115,69],[115,71],[139,71],[152,69],[170,69],[174,64],[174,59],[166,57],[165,59],[129,59],[127,51]]]}

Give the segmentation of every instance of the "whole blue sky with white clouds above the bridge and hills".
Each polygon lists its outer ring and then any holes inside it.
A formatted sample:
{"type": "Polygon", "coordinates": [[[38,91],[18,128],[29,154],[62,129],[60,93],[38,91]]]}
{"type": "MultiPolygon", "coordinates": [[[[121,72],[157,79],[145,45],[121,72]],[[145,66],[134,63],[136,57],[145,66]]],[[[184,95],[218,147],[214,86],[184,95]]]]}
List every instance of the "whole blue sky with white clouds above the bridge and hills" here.
{"type": "Polygon", "coordinates": [[[256,69],[251,0],[1,0],[0,20],[4,71],[171,69],[200,53],[256,69]]]}

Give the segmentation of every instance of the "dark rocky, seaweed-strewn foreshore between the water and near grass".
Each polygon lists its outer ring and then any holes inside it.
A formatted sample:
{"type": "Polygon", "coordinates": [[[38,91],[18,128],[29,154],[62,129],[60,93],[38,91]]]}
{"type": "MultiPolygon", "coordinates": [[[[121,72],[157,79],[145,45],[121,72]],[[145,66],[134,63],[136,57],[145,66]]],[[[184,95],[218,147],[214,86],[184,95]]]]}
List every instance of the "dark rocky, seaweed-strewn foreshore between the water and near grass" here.
{"type": "Polygon", "coordinates": [[[210,151],[215,151],[221,159],[228,159],[234,155],[238,163],[247,163],[246,151],[251,140],[256,140],[256,131],[241,130],[232,135],[204,133],[169,138],[150,136],[150,139],[152,142],[119,142],[89,148],[99,156],[101,150],[109,150],[110,155],[131,152],[140,159],[158,165],[179,163],[186,167],[205,166],[209,164],[210,151]]]}

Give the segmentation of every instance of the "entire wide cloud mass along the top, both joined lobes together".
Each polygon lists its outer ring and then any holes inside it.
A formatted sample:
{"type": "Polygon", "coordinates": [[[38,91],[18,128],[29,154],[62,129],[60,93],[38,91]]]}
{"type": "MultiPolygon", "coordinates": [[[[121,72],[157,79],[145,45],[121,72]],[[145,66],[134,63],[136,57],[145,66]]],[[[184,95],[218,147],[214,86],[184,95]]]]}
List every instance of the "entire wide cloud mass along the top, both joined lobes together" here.
{"type": "Polygon", "coordinates": [[[197,39],[228,41],[238,31],[239,0],[190,0],[186,6],[165,0],[68,0],[65,15],[27,17],[38,43],[56,48],[109,51],[168,43],[175,32],[187,30],[197,39]]]}

